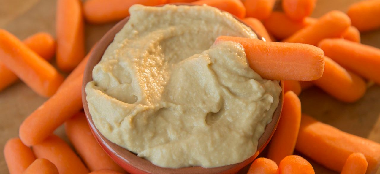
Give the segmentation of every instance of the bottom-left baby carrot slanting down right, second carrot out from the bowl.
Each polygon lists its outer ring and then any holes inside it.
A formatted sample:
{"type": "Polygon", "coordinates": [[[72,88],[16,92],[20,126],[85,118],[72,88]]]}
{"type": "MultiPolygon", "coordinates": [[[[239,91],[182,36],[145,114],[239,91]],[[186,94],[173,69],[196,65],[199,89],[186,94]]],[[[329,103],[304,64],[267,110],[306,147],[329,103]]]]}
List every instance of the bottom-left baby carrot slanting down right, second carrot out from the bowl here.
{"type": "Polygon", "coordinates": [[[86,174],[89,172],[70,146],[54,134],[34,145],[33,152],[37,158],[51,161],[60,174],[86,174]]]}

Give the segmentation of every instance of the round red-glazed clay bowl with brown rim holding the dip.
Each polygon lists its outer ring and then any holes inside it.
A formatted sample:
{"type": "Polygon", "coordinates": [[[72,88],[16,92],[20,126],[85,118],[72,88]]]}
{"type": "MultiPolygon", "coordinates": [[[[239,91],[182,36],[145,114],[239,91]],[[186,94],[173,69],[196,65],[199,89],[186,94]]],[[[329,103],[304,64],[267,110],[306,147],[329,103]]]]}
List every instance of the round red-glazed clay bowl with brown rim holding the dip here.
{"type": "MultiPolygon", "coordinates": [[[[180,3],[175,5],[191,5],[186,3],[180,3]]],[[[238,19],[237,17],[235,17],[238,19]]],[[[86,92],[84,91],[87,82],[92,81],[92,69],[94,66],[100,61],[103,53],[107,49],[108,45],[113,41],[114,36],[117,32],[121,30],[121,28],[127,23],[129,17],[123,19],[119,23],[117,23],[114,27],[111,28],[101,40],[98,42],[97,46],[93,49],[92,54],[90,55],[90,59],[87,63],[86,69],[84,71],[83,84],[82,84],[82,102],[84,112],[86,113],[87,122],[89,123],[90,129],[95,136],[95,139],[98,141],[100,146],[105,150],[106,153],[123,169],[130,173],[139,173],[139,174],[170,174],[170,173],[184,173],[184,174],[195,174],[195,173],[208,173],[208,174],[230,174],[235,173],[242,169],[244,166],[247,166],[251,163],[258,154],[266,147],[269,140],[272,138],[272,135],[277,127],[278,120],[280,118],[282,103],[283,103],[283,92],[280,94],[280,102],[275,110],[272,121],[266,125],[263,135],[258,140],[258,150],[257,152],[247,160],[237,163],[234,165],[221,166],[217,168],[202,168],[202,167],[187,167],[187,168],[179,168],[179,169],[171,169],[171,168],[161,168],[159,166],[155,166],[150,163],[150,161],[145,160],[143,158],[137,157],[135,153],[124,149],[117,144],[106,139],[99,130],[95,127],[92,117],[89,112],[89,108],[86,100],[86,92]]],[[[239,19],[238,19],[239,20],[239,19]]],[[[242,22],[241,20],[239,20],[242,22]]],[[[244,24],[244,22],[242,22],[244,24]]],[[[258,38],[261,39],[260,36],[258,38]]],[[[280,82],[280,86],[283,90],[283,82],[280,82]]]]}

